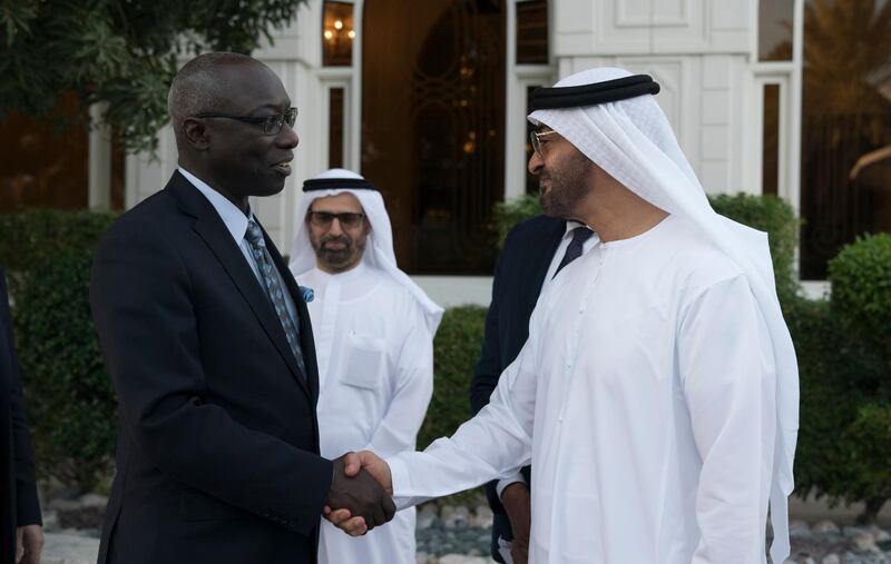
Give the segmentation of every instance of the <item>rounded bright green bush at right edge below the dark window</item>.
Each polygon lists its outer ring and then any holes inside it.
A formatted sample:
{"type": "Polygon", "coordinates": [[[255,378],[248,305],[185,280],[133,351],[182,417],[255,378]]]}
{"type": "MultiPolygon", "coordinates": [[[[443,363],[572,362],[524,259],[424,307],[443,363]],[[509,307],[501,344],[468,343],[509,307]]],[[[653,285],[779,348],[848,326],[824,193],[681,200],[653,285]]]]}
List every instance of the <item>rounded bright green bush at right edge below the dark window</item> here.
{"type": "Polygon", "coordinates": [[[830,261],[829,279],[835,313],[891,359],[891,235],[868,235],[845,246],[830,261]]]}

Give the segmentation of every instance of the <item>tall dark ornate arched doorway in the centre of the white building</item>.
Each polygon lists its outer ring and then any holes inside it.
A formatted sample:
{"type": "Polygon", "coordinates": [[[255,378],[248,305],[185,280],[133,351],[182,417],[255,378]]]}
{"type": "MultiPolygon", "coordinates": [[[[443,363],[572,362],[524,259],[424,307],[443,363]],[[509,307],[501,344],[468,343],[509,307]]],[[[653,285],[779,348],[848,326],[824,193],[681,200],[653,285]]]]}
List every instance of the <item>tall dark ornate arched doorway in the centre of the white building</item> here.
{"type": "Polygon", "coordinates": [[[503,0],[366,0],[362,172],[400,266],[491,274],[505,194],[503,0]]]}

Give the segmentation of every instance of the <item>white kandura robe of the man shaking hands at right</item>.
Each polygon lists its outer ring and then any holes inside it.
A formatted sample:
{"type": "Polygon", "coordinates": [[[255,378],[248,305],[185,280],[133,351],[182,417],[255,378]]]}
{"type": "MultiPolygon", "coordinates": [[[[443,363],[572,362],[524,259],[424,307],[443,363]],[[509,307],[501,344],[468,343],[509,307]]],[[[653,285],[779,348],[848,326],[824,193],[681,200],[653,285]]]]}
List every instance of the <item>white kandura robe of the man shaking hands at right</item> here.
{"type": "Polygon", "coordinates": [[[775,375],[734,263],[673,216],[539,298],[491,403],[388,458],[399,506],[531,458],[533,564],[765,562],[775,375]]]}

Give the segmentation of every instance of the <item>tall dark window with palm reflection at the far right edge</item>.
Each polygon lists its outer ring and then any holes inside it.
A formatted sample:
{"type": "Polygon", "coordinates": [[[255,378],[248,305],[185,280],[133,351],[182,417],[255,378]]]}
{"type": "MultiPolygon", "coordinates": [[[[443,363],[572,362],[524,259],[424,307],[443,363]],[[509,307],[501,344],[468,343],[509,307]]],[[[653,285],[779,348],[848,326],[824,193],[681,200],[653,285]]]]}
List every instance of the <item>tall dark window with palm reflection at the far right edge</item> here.
{"type": "Polygon", "coordinates": [[[807,1],[801,276],[864,232],[891,230],[891,3],[807,1]],[[864,9],[865,8],[865,9],[864,9]]]}

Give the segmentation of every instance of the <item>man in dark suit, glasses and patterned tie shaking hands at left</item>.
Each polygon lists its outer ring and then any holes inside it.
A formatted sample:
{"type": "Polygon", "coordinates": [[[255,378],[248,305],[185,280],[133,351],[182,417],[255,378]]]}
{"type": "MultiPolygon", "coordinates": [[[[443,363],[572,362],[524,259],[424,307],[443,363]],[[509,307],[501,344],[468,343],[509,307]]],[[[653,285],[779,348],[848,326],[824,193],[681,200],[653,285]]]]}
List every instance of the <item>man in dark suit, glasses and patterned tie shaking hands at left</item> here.
{"type": "Polygon", "coordinates": [[[310,316],[248,197],[284,188],[296,109],[235,53],[178,72],[179,168],[96,255],[90,303],[120,406],[99,563],[314,563],[324,506],[392,499],[319,455],[310,316]]]}

